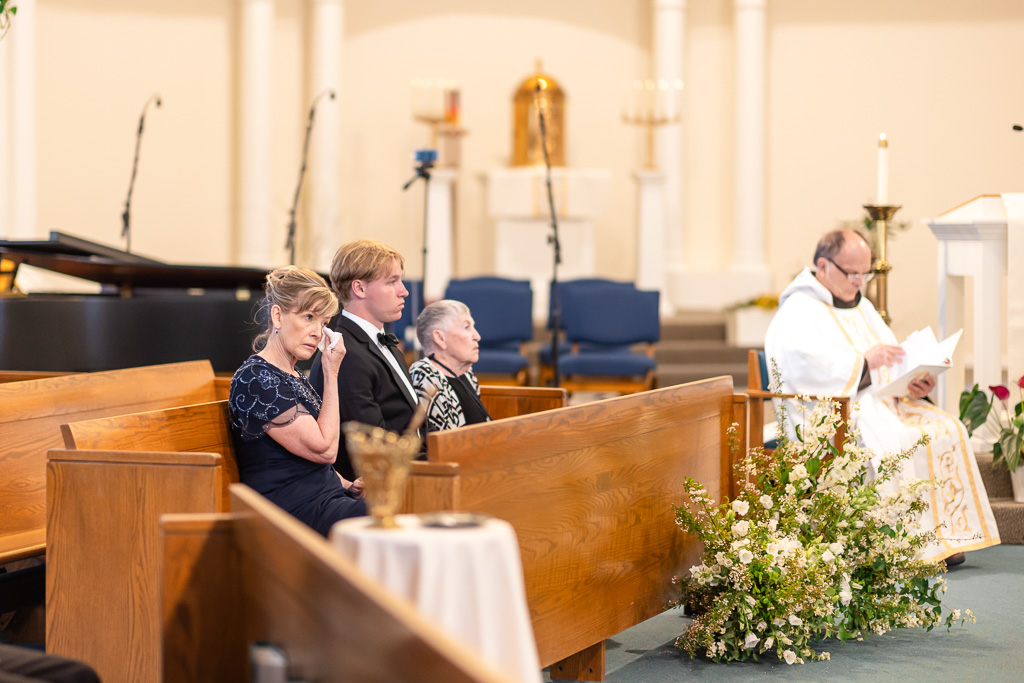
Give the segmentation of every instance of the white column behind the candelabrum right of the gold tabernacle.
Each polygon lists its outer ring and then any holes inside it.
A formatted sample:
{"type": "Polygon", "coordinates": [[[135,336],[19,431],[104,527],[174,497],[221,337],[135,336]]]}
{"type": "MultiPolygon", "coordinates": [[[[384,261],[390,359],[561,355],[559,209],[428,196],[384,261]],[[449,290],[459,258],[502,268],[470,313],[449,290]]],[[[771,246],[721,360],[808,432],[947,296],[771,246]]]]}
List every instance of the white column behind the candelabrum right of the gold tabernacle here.
{"type": "MultiPolygon", "coordinates": [[[[652,0],[653,2],[653,77],[667,81],[670,87],[676,81],[685,81],[685,29],[686,0],[652,0]]],[[[681,101],[684,100],[680,100],[681,101]]],[[[670,106],[675,106],[672,100],[670,106]]],[[[682,112],[668,112],[670,116],[682,112]]],[[[683,264],[683,126],[663,126],[657,132],[657,165],[665,172],[665,231],[664,242],[644,244],[645,250],[665,253],[669,263],[683,264]]],[[[640,278],[637,273],[637,278],[640,278]]],[[[663,289],[664,291],[664,289],[663,289]]],[[[663,301],[668,297],[663,295],[663,301]]]]}

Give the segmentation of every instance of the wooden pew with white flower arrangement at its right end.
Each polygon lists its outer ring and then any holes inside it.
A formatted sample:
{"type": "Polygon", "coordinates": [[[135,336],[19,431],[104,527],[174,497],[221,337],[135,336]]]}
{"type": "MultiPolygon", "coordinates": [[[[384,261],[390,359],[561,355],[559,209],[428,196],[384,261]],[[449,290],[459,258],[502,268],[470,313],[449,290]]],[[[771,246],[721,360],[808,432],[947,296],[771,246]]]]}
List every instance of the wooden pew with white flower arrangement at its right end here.
{"type": "Polygon", "coordinates": [[[407,506],[510,521],[541,665],[603,680],[604,640],[663,611],[697,563],[672,506],[686,476],[726,494],[734,422],[745,397],[717,378],[433,433],[434,470],[414,473],[407,506]]]}

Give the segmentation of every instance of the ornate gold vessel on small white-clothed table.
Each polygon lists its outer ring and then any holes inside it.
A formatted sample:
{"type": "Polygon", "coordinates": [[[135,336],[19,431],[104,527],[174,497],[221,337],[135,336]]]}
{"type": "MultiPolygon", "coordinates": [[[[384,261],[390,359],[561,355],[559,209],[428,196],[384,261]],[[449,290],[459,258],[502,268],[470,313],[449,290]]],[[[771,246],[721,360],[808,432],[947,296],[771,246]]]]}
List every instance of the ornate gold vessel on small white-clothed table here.
{"type": "Polygon", "coordinates": [[[357,422],[346,422],[341,428],[352,465],[362,477],[362,496],[373,526],[397,528],[394,516],[406,493],[410,463],[420,452],[420,437],[357,422]]]}

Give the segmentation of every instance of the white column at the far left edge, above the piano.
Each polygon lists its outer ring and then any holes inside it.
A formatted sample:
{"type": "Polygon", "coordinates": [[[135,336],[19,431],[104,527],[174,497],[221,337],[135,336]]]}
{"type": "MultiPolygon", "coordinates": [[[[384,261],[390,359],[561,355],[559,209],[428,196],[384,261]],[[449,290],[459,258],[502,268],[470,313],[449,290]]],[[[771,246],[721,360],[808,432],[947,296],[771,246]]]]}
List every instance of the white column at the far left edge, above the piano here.
{"type": "Polygon", "coordinates": [[[4,42],[10,41],[7,72],[10,93],[7,141],[8,180],[13,239],[39,237],[36,218],[36,0],[19,0],[17,14],[4,42]]]}

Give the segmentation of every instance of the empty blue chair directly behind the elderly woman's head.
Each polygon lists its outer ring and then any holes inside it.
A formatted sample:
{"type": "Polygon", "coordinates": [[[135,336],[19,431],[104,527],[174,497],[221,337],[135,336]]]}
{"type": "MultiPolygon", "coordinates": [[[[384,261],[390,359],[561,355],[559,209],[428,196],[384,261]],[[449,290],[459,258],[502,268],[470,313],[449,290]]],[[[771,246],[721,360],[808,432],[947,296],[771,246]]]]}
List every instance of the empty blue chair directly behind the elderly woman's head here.
{"type": "Polygon", "coordinates": [[[525,386],[529,361],[525,345],[534,338],[534,290],[526,280],[468,278],[449,282],[445,299],[469,306],[480,333],[480,359],[473,372],[488,384],[525,386]]]}

